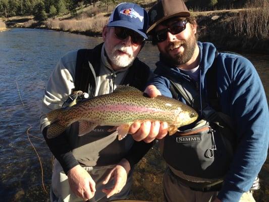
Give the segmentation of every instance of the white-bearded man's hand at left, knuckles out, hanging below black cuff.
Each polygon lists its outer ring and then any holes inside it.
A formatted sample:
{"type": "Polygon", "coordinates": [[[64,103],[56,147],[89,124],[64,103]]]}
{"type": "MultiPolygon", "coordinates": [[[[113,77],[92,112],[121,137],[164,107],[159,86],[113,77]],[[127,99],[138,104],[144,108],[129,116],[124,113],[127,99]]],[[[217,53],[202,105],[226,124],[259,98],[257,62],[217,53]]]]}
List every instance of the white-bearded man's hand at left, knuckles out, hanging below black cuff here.
{"type": "Polygon", "coordinates": [[[94,196],[95,182],[90,174],[80,165],[68,171],[68,182],[71,190],[84,200],[88,200],[94,196]]]}

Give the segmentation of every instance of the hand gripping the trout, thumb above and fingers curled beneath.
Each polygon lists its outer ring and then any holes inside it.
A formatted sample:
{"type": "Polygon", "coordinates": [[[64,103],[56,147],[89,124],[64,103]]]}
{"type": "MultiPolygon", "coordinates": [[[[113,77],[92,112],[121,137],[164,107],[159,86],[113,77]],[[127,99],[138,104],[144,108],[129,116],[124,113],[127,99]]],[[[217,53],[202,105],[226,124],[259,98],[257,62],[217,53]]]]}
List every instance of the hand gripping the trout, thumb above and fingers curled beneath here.
{"type": "MultiPolygon", "coordinates": [[[[160,91],[154,85],[147,86],[144,93],[146,93],[149,97],[161,95],[160,91]]],[[[159,121],[145,121],[141,123],[136,121],[130,126],[129,133],[132,134],[134,140],[144,140],[148,143],[153,141],[155,138],[164,138],[168,133],[168,123],[159,121]]]]}

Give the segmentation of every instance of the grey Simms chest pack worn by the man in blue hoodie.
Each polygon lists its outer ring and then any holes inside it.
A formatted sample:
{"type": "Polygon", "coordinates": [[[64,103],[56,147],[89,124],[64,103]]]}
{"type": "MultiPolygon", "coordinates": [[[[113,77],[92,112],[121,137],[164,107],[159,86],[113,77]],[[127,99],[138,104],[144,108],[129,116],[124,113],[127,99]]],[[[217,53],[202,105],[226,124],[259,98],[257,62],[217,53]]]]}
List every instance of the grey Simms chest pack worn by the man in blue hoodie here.
{"type": "Polygon", "coordinates": [[[232,155],[222,131],[214,124],[202,122],[191,130],[167,136],[163,157],[174,169],[200,178],[222,178],[232,155]]]}

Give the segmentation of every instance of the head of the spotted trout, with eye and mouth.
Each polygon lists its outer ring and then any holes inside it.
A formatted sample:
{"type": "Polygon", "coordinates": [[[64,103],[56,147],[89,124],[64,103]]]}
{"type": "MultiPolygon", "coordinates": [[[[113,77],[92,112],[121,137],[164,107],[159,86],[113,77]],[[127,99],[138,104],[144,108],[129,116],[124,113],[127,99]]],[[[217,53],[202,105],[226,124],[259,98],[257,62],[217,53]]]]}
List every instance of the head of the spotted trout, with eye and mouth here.
{"type": "Polygon", "coordinates": [[[176,125],[178,127],[189,125],[196,121],[198,118],[198,113],[192,109],[191,107],[184,107],[184,109],[180,108],[179,113],[176,117],[176,125]]]}

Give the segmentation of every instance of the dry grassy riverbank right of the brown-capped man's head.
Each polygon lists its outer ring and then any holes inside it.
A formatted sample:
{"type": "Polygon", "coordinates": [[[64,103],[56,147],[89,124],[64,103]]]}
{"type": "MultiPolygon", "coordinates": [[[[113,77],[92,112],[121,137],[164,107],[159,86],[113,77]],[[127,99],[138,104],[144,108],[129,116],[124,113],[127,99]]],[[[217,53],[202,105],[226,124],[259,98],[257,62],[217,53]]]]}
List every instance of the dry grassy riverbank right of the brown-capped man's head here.
{"type": "Polygon", "coordinates": [[[260,17],[253,20],[253,16],[260,16],[262,10],[235,9],[195,13],[199,26],[198,39],[212,42],[224,50],[269,53],[269,10],[266,10],[267,20],[262,35],[257,31],[260,17]]]}

